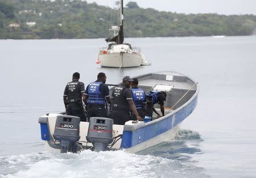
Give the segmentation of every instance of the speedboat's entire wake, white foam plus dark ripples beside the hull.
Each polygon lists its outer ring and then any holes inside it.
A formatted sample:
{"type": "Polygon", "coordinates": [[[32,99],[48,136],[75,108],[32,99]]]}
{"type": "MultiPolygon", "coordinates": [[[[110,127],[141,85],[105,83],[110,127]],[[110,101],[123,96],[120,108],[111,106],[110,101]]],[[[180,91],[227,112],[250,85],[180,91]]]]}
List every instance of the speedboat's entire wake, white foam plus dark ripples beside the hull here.
{"type": "Polygon", "coordinates": [[[202,168],[185,163],[186,155],[201,153],[186,140],[201,141],[200,135],[181,130],[176,138],[139,154],[84,150],[81,154],[0,156],[0,177],[206,177],[202,168]]]}

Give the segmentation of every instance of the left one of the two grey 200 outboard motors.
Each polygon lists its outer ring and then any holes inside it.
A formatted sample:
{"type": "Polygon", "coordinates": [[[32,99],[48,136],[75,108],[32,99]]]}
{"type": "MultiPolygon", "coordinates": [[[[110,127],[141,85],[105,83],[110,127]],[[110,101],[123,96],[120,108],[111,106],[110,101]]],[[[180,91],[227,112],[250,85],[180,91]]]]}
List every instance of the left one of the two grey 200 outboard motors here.
{"type": "Polygon", "coordinates": [[[76,116],[57,116],[53,138],[60,142],[60,152],[77,152],[79,141],[80,117],[76,116]]]}

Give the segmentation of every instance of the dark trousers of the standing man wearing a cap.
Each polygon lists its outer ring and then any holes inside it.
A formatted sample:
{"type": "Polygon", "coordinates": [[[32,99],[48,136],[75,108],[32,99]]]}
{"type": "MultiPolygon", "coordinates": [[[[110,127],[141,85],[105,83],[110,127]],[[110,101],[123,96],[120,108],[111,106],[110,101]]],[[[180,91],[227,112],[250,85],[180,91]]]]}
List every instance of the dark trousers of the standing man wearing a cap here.
{"type": "Polygon", "coordinates": [[[114,110],[110,113],[110,118],[114,120],[114,124],[125,125],[125,122],[132,120],[129,111],[114,110]]]}

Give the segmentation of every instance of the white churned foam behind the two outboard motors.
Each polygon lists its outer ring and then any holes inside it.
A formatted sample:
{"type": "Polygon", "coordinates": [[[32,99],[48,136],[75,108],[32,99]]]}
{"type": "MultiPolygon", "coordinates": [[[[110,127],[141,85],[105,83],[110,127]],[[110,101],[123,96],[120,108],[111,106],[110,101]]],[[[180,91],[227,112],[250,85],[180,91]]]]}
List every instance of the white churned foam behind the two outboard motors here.
{"type": "Polygon", "coordinates": [[[196,167],[178,160],[123,151],[0,157],[0,177],[184,177],[196,167]]]}

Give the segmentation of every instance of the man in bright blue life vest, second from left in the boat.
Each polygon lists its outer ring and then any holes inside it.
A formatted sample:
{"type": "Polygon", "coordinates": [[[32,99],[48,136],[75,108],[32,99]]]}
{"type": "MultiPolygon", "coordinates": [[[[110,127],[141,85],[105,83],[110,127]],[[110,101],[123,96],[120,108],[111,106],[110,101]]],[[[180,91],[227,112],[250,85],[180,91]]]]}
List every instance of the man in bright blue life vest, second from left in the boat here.
{"type": "Polygon", "coordinates": [[[87,118],[107,117],[105,108],[106,101],[111,104],[109,87],[106,83],[106,74],[98,73],[97,80],[90,83],[85,90],[87,108],[87,118]]]}

